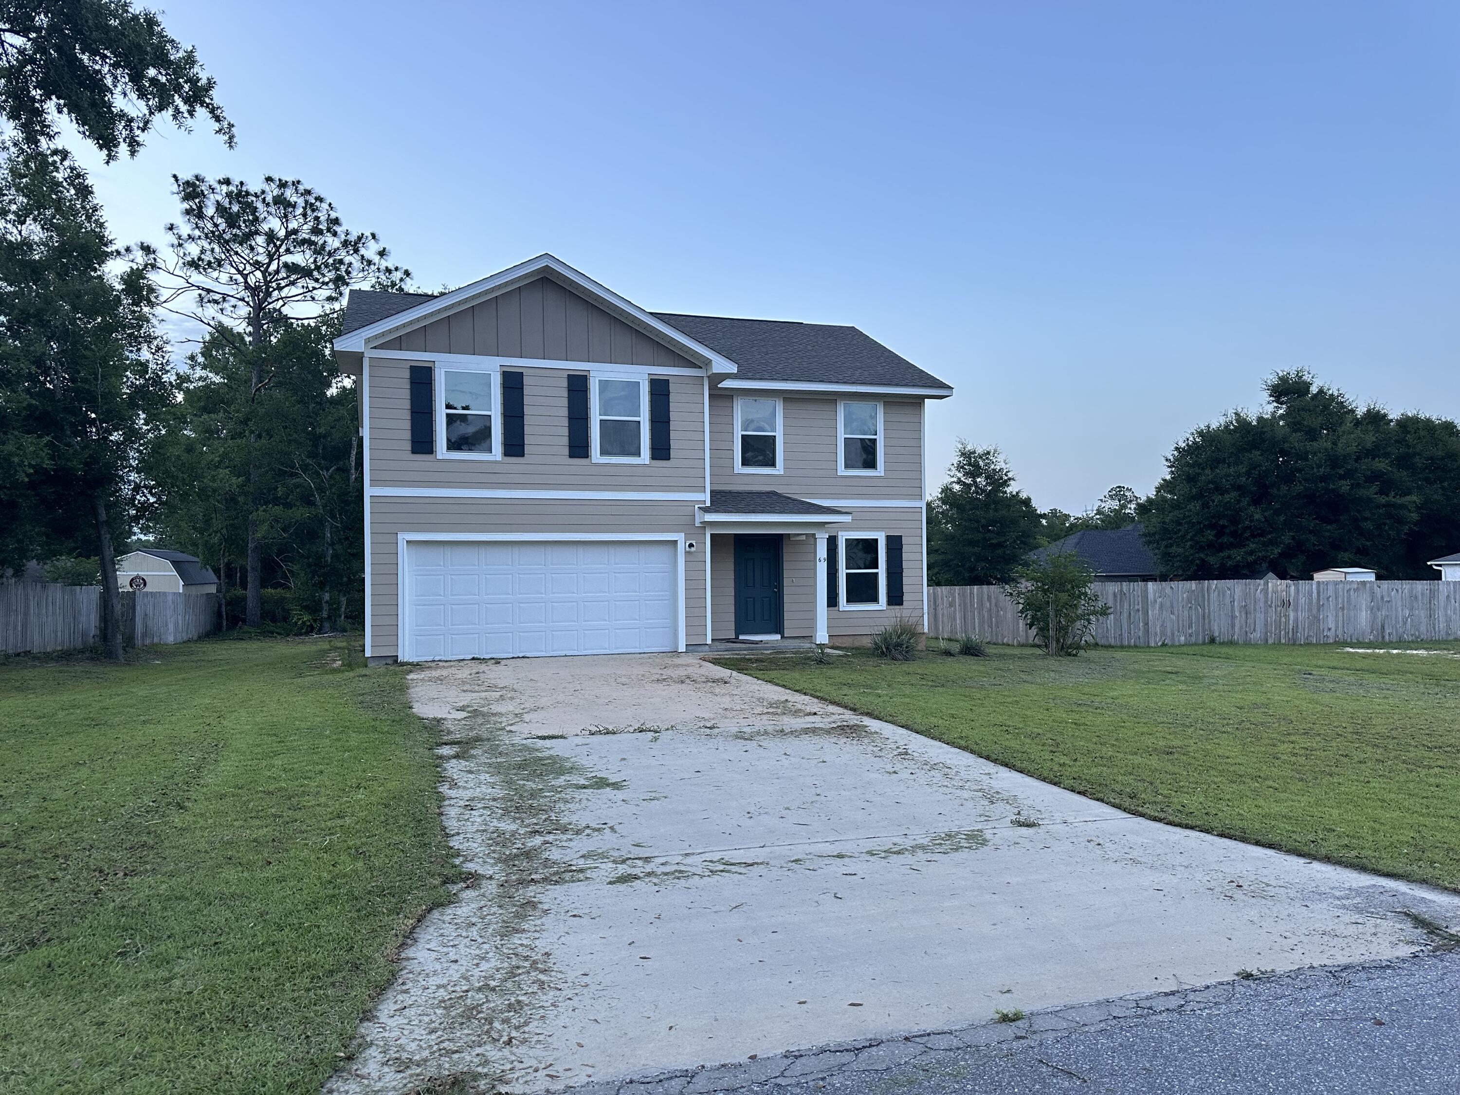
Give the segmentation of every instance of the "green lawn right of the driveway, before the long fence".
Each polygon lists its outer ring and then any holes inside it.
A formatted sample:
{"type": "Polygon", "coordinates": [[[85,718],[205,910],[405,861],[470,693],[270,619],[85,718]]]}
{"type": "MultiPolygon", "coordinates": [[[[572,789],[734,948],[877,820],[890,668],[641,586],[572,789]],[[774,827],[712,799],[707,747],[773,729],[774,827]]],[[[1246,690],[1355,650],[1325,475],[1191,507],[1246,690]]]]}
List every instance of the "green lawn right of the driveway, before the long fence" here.
{"type": "Polygon", "coordinates": [[[988,650],[724,664],[1132,813],[1460,889],[1460,658],[988,650]]]}

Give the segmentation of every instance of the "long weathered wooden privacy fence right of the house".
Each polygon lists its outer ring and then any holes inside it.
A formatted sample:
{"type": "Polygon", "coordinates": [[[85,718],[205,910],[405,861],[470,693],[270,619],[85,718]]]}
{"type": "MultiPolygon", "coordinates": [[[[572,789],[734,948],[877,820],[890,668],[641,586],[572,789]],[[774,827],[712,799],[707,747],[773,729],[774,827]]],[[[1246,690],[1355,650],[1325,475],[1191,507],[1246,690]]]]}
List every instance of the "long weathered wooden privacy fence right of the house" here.
{"type": "MultiPolygon", "coordinates": [[[[1102,581],[1102,647],[1460,639],[1460,581],[1102,581]]],[[[999,585],[927,591],[927,634],[1034,642],[999,585]]]]}

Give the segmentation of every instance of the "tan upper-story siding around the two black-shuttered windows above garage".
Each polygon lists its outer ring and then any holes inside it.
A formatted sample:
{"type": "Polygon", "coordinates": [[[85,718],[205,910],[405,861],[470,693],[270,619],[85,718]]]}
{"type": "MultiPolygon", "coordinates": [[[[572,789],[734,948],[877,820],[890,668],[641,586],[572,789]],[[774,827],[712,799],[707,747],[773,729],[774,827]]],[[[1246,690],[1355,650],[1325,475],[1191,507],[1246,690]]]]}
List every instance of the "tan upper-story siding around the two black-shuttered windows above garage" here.
{"type": "MultiPolygon", "coordinates": [[[[371,486],[536,491],[685,491],[704,493],[704,380],[669,377],[670,458],[597,464],[568,456],[566,369],[523,369],[526,456],[445,460],[410,451],[410,362],[368,358],[371,486]]],[[[493,423],[501,431],[501,420],[493,423]]]]}

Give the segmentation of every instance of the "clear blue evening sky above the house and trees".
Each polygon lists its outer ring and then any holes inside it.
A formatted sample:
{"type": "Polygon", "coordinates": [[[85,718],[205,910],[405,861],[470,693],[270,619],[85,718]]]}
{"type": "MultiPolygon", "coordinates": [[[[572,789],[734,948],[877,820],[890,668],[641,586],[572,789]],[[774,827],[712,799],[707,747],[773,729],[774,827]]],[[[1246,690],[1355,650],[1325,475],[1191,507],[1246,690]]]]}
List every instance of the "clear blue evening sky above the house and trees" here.
{"type": "MultiPolygon", "coordinates": [[[[426,288],[552,251],[651,310],[847,323],[1044,508],[1149,491],[1304,365],[1460,416],[1454,3],[172,0],[238,127],[96,182],[298,177],[426,288]]],[[[92,161],[93,162],[93,161],[92,161]]]]}

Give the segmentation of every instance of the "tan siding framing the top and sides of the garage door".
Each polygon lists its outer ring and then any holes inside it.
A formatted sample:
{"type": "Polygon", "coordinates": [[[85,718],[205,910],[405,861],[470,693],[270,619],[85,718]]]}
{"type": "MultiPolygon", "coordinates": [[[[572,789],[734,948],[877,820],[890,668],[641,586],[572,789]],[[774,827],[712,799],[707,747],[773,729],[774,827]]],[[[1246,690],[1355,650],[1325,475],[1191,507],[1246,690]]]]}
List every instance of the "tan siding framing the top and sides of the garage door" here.
{"type": "MultiPolygon", "coordinates": [[[[581,461],[580,461],[581,463],[581,461]]],[[[371,656],[399,651],[400,533],[683,533],[702,542],[694,502],[371,498],[371,656]]],[[[685,641],[704,642],[705,566],[685,556],[685,641]]]]}

